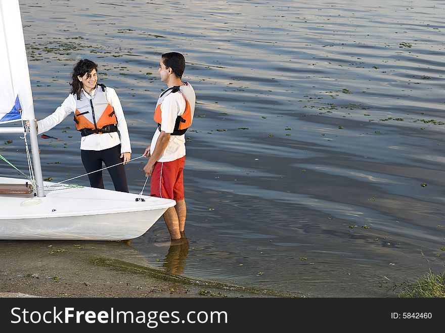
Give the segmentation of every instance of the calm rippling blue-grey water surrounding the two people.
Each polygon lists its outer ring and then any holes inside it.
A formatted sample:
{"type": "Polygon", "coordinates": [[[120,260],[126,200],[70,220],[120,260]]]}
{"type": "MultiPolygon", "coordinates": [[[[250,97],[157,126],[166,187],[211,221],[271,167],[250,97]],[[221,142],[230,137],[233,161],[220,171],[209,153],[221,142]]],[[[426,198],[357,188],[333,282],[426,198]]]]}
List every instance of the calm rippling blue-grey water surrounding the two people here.
{"type": "MultiPolygon", "coordinates": [[[[390,296],[382,281],[443,271],[442,1],[33,0],[21,10],[36,117],[65,99],[74,62],[92,59],[117,90],[133,158],[155,130],[160,55],[185,54],[197,94],[189,247],[169,249],[160,219],[131,242],[152,267],[319,297],[390,296]]],[[[72,120],[47,134],[64,142],[40,140],[43,176],[83,174],[72,120]]],[[[18,138],[2,148],[27,170],[18,138]]],[[[127,166],[131,192],[144,164],[127,166]]],[[[0,174],[15,172],[0,164],[0,174]]]]}

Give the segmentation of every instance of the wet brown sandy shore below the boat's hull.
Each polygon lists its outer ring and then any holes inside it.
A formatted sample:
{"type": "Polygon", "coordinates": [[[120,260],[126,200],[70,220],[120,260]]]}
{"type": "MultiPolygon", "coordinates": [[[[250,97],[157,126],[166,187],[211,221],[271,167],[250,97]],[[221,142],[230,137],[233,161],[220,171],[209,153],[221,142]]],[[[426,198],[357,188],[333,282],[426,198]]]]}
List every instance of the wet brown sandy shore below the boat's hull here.
{"type": "Polygon", "coordinates": [[[2,242],[1,247],[0,297],[292,296],[148,268],[143,256],[121,242],[2,242]]]}

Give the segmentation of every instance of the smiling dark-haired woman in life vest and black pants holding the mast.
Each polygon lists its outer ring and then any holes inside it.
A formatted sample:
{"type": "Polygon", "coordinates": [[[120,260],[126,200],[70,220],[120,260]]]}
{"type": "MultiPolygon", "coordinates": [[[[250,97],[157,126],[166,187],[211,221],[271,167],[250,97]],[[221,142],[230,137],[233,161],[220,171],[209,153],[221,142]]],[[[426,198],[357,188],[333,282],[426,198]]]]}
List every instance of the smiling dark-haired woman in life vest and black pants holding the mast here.
{"type": "MultiPolygon", "coordinates": [[[[74,113],[80,131],[80,156],[86,172],[130,160],[131,148],[122,106],[113,88],[97,83],[98,65],[79,60],[73,69],[70,94],[60,107],[37,122],[38,134],[46,132],[74,113]],[[117,131],[120,133],[117,134],[117,131]]],[[[116,191],[128,192],[123,164],[108,169],[116,191]]],[[[102,171],[88,174],[91,187],[104,188],[102,171]]]]}

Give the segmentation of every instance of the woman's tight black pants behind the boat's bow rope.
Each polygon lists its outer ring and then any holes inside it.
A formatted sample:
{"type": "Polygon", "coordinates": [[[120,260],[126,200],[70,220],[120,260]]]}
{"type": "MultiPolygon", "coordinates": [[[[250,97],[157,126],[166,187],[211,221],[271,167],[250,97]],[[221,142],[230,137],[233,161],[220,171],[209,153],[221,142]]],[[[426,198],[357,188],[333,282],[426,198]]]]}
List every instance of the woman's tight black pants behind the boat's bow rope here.
{"type": "MultiPolygon", "coordinates": [[[[104,150],[80,150],[83,166],[86,172],[92,172],[103,168],[102,162],[109,167],[123,162],[120,158],[120,145],[104,150]]],[[[120,192],[128,192],[127,177],[123,164],[107,169],[113,180],[114,189],[120,192]]],[[[88,175],[91,187],[104,188],[102,171],[97,171],[88,175]]]]}

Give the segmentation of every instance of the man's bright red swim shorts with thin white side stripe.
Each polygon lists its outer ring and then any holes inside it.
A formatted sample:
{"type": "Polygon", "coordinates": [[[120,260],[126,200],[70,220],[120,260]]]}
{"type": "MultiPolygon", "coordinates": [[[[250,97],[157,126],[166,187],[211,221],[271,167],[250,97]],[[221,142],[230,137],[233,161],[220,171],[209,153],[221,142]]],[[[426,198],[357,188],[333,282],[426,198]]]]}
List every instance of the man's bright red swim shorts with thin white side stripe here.
{"type": "Polygon", "coordinates": [[[151,175],[150,195],[152,197],[184,200],[183,170],[186,157],[171,162],[156,162],[151,175]]]}

